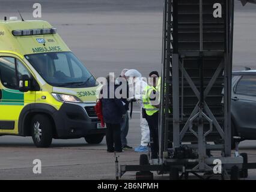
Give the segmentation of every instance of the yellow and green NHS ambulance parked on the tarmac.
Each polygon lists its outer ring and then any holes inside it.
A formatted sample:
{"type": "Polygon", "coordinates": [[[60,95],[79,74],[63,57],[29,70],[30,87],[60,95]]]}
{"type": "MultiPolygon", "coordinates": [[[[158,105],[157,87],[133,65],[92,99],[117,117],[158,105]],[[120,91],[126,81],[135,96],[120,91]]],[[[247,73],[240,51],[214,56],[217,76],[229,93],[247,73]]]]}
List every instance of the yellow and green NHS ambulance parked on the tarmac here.
{"type": "Polygon", "coordinates": [[[0,20],[0,136],[97,144],[105,136],[94,106],[97,81],[48,22],[0,20]]]}

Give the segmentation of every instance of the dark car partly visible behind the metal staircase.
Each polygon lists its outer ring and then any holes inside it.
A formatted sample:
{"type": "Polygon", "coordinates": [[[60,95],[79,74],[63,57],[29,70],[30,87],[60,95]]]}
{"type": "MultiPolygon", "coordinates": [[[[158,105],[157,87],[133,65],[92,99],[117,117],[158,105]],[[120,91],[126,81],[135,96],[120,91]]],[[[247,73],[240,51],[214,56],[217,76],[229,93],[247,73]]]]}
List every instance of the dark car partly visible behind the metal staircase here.
{"type": "Polygon", "coordinates": [[[256,70],[233,72],[231,94],[233,136],[256,140],[256,70]]]}

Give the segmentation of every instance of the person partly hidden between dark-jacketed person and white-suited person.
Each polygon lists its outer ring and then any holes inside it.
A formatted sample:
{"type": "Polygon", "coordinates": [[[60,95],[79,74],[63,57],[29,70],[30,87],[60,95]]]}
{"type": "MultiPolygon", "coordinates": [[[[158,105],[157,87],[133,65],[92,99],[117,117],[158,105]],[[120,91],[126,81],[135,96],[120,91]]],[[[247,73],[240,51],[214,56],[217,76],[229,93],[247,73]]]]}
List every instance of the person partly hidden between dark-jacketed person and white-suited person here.
{"type": "Polygon", "coordinates": [[[127,98],[129,97],[129,86],[128,86],[126,76],[124,74],[128,70],[129,69],[124,68],[121,71],[120,76],[115,81],[115,84],[117,84],[118,86],[122,86],[123,83],[126,83],[126,86],[124,86],[126,88],[126,91],[124,92],[124,90],[121,89],[121,92],[120,92],[120,94],[122,94],[121,100],[123,101],[123,103],[125,103],[124,107],[126,108],[126,115],[124,116],[124,118],[121,121],[121,143],[122,143],[122,148],[124,150],[132,149],[131,146],[127,145],[128,142],[126,139],[128,131],[129,131],[129,115],[128,115],[129,101],[127,101],[127,98]],[[123,95],[123,94],[126,94],[126,95],[123,95]]]}

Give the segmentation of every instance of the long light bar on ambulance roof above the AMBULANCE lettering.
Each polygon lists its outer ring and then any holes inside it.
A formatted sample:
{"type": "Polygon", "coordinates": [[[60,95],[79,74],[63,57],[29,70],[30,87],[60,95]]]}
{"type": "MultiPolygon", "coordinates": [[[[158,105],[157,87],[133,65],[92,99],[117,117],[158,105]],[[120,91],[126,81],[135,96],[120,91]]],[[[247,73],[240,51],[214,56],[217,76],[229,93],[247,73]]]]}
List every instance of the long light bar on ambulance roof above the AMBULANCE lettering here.
{"type": "Polygon", "coordinates": [[[56,34],[56,28],[49,29],[26,29],[26,30],[14,30],[12,31],[14,37],[29,36],[29,35],[49,35],[56,34]]]}

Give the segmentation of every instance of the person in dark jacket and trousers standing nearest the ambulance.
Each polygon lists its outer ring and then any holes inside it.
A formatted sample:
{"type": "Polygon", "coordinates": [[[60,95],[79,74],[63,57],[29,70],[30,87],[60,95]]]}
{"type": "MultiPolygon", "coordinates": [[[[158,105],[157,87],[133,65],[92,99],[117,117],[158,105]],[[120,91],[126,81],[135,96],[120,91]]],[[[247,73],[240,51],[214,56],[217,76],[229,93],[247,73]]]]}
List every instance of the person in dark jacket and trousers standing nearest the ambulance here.
{"type": "Polygon", "coordinates": [[[126,115],[126,108],[121,99],[115,97],[114,76],[107,77],[108,85],[103,87],[102,113],[106,123],[106,144],[108,152],[123,152],[121,145],[121,122],[126,115]]]}

